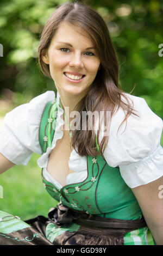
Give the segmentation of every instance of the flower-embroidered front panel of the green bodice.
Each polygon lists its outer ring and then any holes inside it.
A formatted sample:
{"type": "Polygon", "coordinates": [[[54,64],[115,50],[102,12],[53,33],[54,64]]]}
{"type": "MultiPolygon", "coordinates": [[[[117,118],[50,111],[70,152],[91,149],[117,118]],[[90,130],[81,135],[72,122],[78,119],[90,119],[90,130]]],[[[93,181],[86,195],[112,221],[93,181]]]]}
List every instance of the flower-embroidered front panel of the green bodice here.
{"type": "Polygon", "coordinates": [[[96,158],[87,156],[87,178],[83,182],[69,184],[59,189],[42,175],[42,181],[47,192],[60,204],[69,208],[89,214],[101,214],[96,200],[96,191],[98,180],[106,162],[102,157],[101,161],[97,161],[99,157],[101,156],[96,158]]]}

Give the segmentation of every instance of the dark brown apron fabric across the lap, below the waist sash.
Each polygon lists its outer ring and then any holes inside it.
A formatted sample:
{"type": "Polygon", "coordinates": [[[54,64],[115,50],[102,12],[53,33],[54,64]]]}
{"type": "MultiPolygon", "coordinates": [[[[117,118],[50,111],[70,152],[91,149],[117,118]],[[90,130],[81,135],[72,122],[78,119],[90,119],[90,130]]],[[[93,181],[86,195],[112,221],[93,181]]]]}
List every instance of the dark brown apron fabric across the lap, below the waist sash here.
{"type": "Polygon", "coordinates": [[[130,231],[80,225],[78,231],[65,231],[51,243],[45,236],[48,218],[37,216],[26,222],[31,227],[9,234],[0,233],[0,245],[123,245],[123,236],[130,231]]]}

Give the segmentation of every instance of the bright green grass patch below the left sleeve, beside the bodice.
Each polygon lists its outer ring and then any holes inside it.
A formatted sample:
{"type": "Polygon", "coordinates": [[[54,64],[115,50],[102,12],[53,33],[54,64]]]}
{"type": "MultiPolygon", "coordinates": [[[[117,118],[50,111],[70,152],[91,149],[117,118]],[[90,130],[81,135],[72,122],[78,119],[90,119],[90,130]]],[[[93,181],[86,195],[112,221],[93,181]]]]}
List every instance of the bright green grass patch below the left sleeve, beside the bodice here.
{"type": "Polygon", "coordinates": [[[41,168],[36,163],[39,157],[33,153],[27,166],[14,166],[0,175],[1,211],[27,220],[37,215],[47,217],[48,210],[57,204],[42,185],[41,168]]]}

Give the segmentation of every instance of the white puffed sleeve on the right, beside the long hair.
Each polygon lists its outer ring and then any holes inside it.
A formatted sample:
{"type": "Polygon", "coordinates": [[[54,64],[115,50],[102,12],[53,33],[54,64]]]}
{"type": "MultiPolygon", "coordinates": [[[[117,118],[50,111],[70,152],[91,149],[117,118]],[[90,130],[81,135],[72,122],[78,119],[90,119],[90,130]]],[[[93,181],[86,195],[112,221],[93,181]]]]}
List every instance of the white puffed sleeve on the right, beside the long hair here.
{"type": "Polygon", "coordinates": [[[139,117],[131,114],[127,124],[124,122],[117,133],[124,118],[123,110],[118,109],[111,121],[104,157],[110,166],[119,166],[126,184],[134,188],[163,175],[163,149],[160,145],[163,125],[162,119],[152,112],[144,99],[133,95],[128,95],[128,99],[133,101],[139,117]]]}

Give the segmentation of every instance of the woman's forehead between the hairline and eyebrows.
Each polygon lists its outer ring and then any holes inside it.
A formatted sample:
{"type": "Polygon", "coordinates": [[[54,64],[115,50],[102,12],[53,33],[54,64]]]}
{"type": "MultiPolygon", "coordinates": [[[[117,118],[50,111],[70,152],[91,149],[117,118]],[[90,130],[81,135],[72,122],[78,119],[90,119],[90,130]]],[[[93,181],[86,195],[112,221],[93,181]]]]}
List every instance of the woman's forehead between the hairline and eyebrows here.
{"type": "Polygon", "coordinates": [[[62,22],[55,31],[52,42],[66,41],[67,42],[81,41],[85,44],[93,45],[90,35],[79,26],[71,25],[68,22],[62,22]]]}

